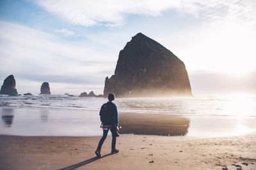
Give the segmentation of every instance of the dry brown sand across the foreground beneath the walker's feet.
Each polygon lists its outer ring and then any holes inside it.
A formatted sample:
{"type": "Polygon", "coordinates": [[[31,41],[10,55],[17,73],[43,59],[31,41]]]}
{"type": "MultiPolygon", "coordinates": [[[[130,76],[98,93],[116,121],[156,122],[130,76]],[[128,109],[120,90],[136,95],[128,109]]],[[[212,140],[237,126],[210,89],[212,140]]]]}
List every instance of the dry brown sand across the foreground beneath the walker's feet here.
{"type": "Polygon", "coordinates": [[[100,137],[0,136],[0,169],[256,169],[256,134],[188,138],[122,134],[109,155],[100,137]]]}

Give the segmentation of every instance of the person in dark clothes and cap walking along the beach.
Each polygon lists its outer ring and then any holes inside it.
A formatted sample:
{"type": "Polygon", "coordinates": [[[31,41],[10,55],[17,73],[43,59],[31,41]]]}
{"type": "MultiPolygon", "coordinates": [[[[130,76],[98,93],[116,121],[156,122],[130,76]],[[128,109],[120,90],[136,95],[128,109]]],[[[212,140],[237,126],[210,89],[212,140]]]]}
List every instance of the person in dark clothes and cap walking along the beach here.
{"type": "Polygon", "coordinates": [[[97,147],[97,150],[95,151],[95,154],[97,157],[101,157],[100,150],[101,147],[107,138],[108,131],[110,129],[112,134],[112,145],[111,145],[111,153],[118,153],[119,151],[116,150],[116,136],[118,135],[118,113],[116,104],[114,104],[112,101],[115,100],[114,94],[108,95],[108,103],[105,103],[100,108],[100,121],[102,122],[102,129],[103,129],[103,136],[99,141],[99,145],[97,147]]]}

